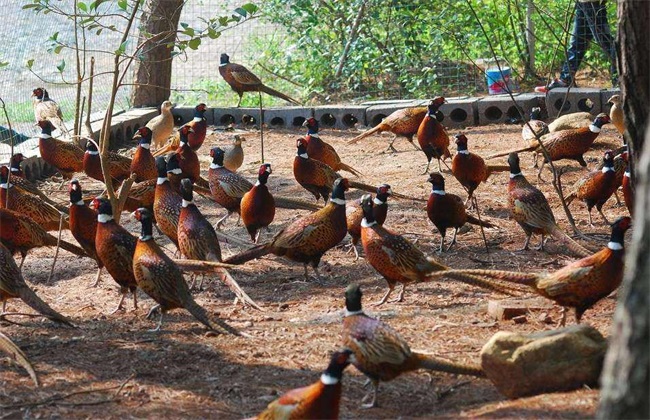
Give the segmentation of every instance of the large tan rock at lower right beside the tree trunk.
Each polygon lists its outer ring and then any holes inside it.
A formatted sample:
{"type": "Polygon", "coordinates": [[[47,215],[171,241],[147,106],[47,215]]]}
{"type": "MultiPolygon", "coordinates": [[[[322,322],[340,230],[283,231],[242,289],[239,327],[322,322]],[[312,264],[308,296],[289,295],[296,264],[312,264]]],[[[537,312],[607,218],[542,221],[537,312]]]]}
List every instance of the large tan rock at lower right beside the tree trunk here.
{"type": "Polygon", "coordinates": [[[496,333],[481,350],[481,367],[508,398],[596,386],[607,341],[593,327],[573,325],[533,334],[496,333]]]}

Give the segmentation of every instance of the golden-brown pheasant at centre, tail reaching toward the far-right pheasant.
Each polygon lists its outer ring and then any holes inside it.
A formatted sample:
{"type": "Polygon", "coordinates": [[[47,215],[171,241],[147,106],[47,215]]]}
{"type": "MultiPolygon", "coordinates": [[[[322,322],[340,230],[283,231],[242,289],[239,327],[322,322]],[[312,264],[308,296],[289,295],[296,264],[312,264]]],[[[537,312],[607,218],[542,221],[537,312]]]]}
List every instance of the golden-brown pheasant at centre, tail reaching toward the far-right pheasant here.
{"type": "MultiPolygon", "coordinates": [[[[388,283],[388,291],[377,303],[377,306],[384,304],[388,300],[395,288],[395,284],[402,284],[402,290],[398,297],[398,301],[401,302],[404,299],[404,290],[407,283],[425,282],[428,281],[428,277],[432,273],[449,269],[433,258],[426,257],[422,251],[403,236],[380,226],[375,221],[373,202],[369,194],[361,198],[361,208],[363,209],[361,243],[366,254],[366,261],[388,283]]],[[[509,293],[500,285],[486,282],[478,277],[462,277],[459,280],[471,285],[509,293]]]]}

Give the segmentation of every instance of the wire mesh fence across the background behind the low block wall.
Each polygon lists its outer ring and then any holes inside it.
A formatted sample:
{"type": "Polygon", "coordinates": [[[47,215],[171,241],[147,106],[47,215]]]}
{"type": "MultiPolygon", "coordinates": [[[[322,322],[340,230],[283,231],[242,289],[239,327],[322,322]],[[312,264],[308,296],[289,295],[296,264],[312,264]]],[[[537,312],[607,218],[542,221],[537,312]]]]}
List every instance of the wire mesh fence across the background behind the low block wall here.
{"type": "MultiPolygon", "coordinates": [[[[13,127],[25,136],[21,139],[37,133],[30,98],[35,87],[48,89],[61,105],[67,121],[73,118],[75,99],[74,86],[61,83],[62,74],[68,81],[75,78],[73,52],[69,49],[58,54],[48,52],[53,34],[58,34],[59,40],[72,42],[74,26],[65,16],[23,9],[33,1],[0,0],[5,21],[11,22],[0,28],[5,43],[0,52],[0,63],[5,64],[0,69],[0,96],[7,105],[13,127]],[[30,59],[34,59],[32,71],[26,67],[30,59]],[[62,60],[67,67],[60,73],[57,66],[62,60]]],[[[72,1],[55,3],[61,8],[74,7],[72,1]]],[[[107,13],[118,11],[119,2],[105,3],[107,13]]],[[[181,26],[232,14],[242,3],[240,0],[187,0],[183,4],[181,26]]],[[[475,2],[474,12],[468,8],[469,1],[460,0],[435,3],[256,0],[255,4],[258,12],[253,19],[227,28],[216,39],[203,39],[197,50],[186,49],[175,56],[171,80],[173,102],[188,106],[198,102],[234,106],[236,94],[218,75],[219,56],[224,52],[266,84],[308,105],[439,94],[487,94],[485,75],[476,66],[476,60],[491,57],[488,44],[510,59],[514,76],[521,78],[528,71],[521,65],[526,53],[522,43],[526,38],[526,19],[537,20],[538,73],[544,74],[550,67],[558,67],[557,62],[564,54],[558,46],[568,39],[574,1],[475,2]],[[485,27],[487,37],[477,29],[477,22],[485,27]]],[[[614,8],[615,4],[608,5],[611,22],[614,8]]],[[[137,39],[137,31],[136,22],[131,39],[137,39]]],[[[106,71],[112,55],[98,51],[113,51],[119,45],[119,38],[119,32],[108,30],[101,35],[89,34],[85,39],[85,61],[94,55],[96,71],[106,71]]],[[[587,61],[594,62],[592,56],[598,58],[598,54],[597,50],[590,51],[587,61]]],[[[596,59],[595,63],[592,70],[607,68],[602,59],[596,59]]],[[[125,80],[127,86],[119,91],[116,111],[130,107],[129,77],[125,80]]],[[[110,84],[109,75],[95,79],[93,111],[97,112],[97,118],[106,109],[110,84]]],[[[266,106],[284,104],[274,98],[265,99],[266,106]]],[[[242,106],[257,105],[256,95],[244,96],[242,106]]],[[[0,125],[7,126],[4,115],[0,117],[0,125]]],[[[5,136],[3,133],[0,130],[0,136],[5,136]]],[[[3,142],[7,143],[6,139],[3,142]]]]}

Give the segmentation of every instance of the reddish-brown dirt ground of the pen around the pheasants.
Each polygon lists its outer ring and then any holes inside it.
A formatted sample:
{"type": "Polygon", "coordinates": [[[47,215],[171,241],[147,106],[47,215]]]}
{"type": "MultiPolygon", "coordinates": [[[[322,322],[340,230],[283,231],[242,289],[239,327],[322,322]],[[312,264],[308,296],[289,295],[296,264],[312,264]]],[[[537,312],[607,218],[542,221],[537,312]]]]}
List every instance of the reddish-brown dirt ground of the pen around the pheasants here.
{"type": "MultiPolygon", "coordinates": [[[[465,130],[470,150],[481,155],[521,144],[520,127],[493,125],[465,130]]],[[[303,131],[271,130],[265,134],[265,153],[273,164],[269,185],[273,192],[304,200],[313,197],[293,179],[292,160],[295,139],[303,131]]],[[[260,164],[259,140],[256,131],[244,132],[246,154],[241,172],[254,180],[260,164]]],[[[388,137],[373,136],[356,145],[346,140],[356,132],[323,130],[322,138],[333,144],[344,162],[364,176],[362,180],[376,185],[389,183],[395,192],[428,197],[430,185],[421,175],[426,159],[404,139],[395,143],[395,154],[380,153],[388,137]]],[[[450,135],[455,134],[454,130],[450,135]]],[[[215,144],[228,145],[232,133],[217,130],[200,150],[205,171],[209,164],[208,150],[215,144]]],[[[587,154],[590,167],[598,164],[604,150],[621,144],[614,127],[606,126],[587,154]]],[[[455,147],[451,148],[455,152],[455,147]]],[[[505,158],[494,163],[505,163],[505,158]]],[[[524,173],[531,181],[535,170],[532,158],[522,156],[524,173]]],[[[575,162],[563,161],[559,166],[572,168],[563,176],[570,185],[586,174],[575,162]]],[[[432,163],[432,169],[437,168],[432,163]]],[[[465,197],[462,187],[445,172],[447,190],[465,197]]],[[[551,178],[545,172],[545,178],[551,178]]],[[[86,190],[98,190],[100,184],[80,176],[86,190]]],[[[56,180],[56,179],[55,179],[56,180]]],[[[437,254],[440,237],[429,222],[425,204],[408,200],[390,201],[386,226],[417,239],[428,255],[458,268],[500,268],[507,270],[554,270],[572,260],[560,246],[549,241],[547,252],[518,252],[524,241],[521,229],[509,218],[506,207],[507,173],[493,175],[477,190],[482,216],[498,228],[486,229],[489,254],[486,253],[480,230],[471,228],[459,234],[458,244],[450,252],[437,254]]],[[[58,183],[47,182],[44,188],[55,189],[58,183]]],[[[570,228],[550,183],[540,188],[546,193],[560,226],[570,228]]],[[[61,202],[67,201],[66,190],[53,192],[61,202]]],[[[358,191],[348,199],[361,196],[358,191]]],[[[197,204],[213,222],[224,210],[205,199],[197,204]]],[[[607,241],[608,228],[594,212],[596,227],[587,224],[584,204],[571,205],[578,227],[599,248],[607,241]]],[[[610,220],[626,215],[625,207],[610,200],[604,209],[610,220]]],[[[303,211],[278,210],[272,233],[279,227],[305,214],[303,211]]],[[[123,223],[139,233],[136,222],[128,215],[123,223]]],[[[228,220],[225,232],[247,238],[245,229],[228,220]]],[[[264,233],[262,239],[270,238],[264,233]]],[[[628,235],[630,236],[630,235],[628,235]]],[[[73,240],[69,232],[63,238],[73,240]]],[[[157,237],[166,249],[173,245],[157,237]]],[[[449,240],[449,237],[448,237],[449,240]]],[[[534,244],[539,238],[534,238],[534,244]]],[[[582,241],[585,244],[584,241],[582,241]]],[[[347,239],[343,244],[347,244],[347,239]]],[[[223,245],[225,256],[239,249],[223,245]]],[[[305,282],[303,267],[283,258],[268,256],[232,270],[233,276],[247,293],[264,309],[263,312],[233,304],[231,292],[215,279],[208,278],[196,300],[213,315],[226,319],[249,338],[218,336],[206,330],[184,310],[175,310],[166,317],[163,331],[152,333],[153,321],[145,319],[154,302],[140,293],[140,305],[108,315],[119,295],[114,281],[104,273],[97,288],[90,287],[96,266],[89,259],[61,251],[52,282],[48,283],[53,249],[37,249],[29,253],[23,269],[28,283],[50,305],[71,317],[78,329],[59,327],[41,318],[10,317],[0,323],[1,331],[10,336],[34,363],[43,386],[35,388],[22,368],[0,357],[0,418],[143,418],[156,416],[242,418],[254,415],[284,391],[316,381],[325,368],[328,355],[339,346],[343,292],[351,282],[361,284],[366,311],[397,329],[413,349],[460,362],[479,363],[483,344],[497,331],[522,333],[554,328],[540,319],[545,314],[528,315],[527,323],[494,321],[487,314],[489,299],[504,296],[450,281],[412,285],[401,303],[371,306],[386,290],[386,282],[363,259],[355,261],[347,249],[339,246],[325,254],[321,267],[328,277],[323,284],[305,282]]],[[[532,296],[532,295],[531,295],[532,296]]],[[[590,311],[583,322],[593,325],[609,336],[615,300],[606,298],[590,311]]],[[[8,305],[12,312],[31,312],[22,302],[8,305]]],[[[547,311],[557,320],[559,308],[547,311]]],[[[573,317],[570,317],[573,322],[573,317]]],[[[508,400],[486,379],[456,377],[447,374],[418,372],[381,385],[379,408],[362,409],[365,378],[354,368],[344,377],[341,417],[344,418],[428,418],[428,417],[592,417],[598,404],[598,390],[539,395],[508,400]]]]}

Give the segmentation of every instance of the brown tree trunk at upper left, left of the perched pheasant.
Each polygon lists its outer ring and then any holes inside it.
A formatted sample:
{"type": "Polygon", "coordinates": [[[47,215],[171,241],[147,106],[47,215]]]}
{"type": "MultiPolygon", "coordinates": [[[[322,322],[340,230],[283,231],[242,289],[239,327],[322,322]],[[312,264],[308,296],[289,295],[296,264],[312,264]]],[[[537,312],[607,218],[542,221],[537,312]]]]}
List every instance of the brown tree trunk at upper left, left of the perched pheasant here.
{"type": "Polygon", "coordinates": [[[142,31],[138,43],[146,37],[161,35],[147,45],[143,59],[135,62],[134,83],[131,103],[134,107],[159,106],[169,99],[172,80],[172,49],[167,46],[175,39],[183,0],[147,0],[143,6],[140,21],[142,31]]]}

